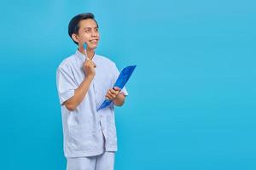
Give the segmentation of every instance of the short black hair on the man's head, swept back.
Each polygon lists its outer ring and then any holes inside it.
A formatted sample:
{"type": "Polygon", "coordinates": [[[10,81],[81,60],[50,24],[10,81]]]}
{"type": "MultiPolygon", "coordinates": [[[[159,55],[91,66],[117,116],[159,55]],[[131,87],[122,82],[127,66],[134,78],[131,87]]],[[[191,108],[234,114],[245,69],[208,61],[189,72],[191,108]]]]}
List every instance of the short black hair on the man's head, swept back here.
{"type": "MultiPolygon", "coordinates": [[[[91,14],[91,13],[78,14],[78,15],[74,16],[73,19],[71,19],[69,21],[69,24],[68,24],[69,37],[72,38],[73,34],[79,33],[79,22],[80,22],[80,20],[86,20],[86,19],[92,19],[96,22],[96,20],[94,19],[94,14],[91,14]]],[[[96,25],[98,26],[97,22],[96,22],[96,25]]],[[[73,40],[73,42],[75,42],[75,41],[73,40]]],[[[75,42],[75,43],[79,44],[78,42],[75,42]]]]}

